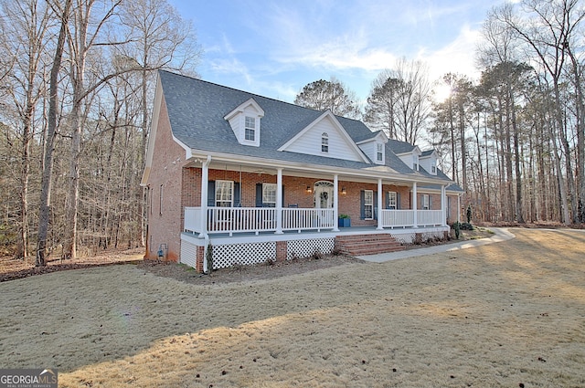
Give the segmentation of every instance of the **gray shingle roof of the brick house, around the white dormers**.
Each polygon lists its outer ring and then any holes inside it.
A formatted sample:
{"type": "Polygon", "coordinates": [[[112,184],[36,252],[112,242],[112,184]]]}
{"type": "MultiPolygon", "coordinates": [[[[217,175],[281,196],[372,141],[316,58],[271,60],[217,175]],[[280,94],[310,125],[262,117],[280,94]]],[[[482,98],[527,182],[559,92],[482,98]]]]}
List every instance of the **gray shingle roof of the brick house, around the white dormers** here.
{"type": "MultiPolygon", "coordinates": [[[[363,169],[376,166],[373,163],[278,151],[282,144],[321,116],[321,111],[165,70],[159,71],[159,77],[173,134],[191,149],[343,168],[363,169]],[[261,147],[239,144],[229,122],[224,120],[230,111],[250,98],[264,110],[264,117],[261,119],[261,147]]],[[[373,138],[377,134],[361,121],[339,116],[336,118],[354,142],[373,138]]],[[[396,141],[389,141],[386,147],[386,165],[398,173],[412,175],[415,173],[396,156],[397,151],[394,149],[408,148],[407,144],[399,145],[396,141]]],[[[408,145],[411,151],[414,146],[408,145]]]]}

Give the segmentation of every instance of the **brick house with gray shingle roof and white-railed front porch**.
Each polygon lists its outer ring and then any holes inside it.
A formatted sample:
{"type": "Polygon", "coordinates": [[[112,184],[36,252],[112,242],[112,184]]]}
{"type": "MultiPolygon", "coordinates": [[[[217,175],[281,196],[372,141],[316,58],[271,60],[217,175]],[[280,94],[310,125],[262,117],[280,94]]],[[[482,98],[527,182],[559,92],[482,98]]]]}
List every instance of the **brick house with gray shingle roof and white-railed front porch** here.
{"type": "Polygon", "coordinates": [[[444,236],[462,190],[437,157],[330,110],[160,71],[145,258],[207,271],[329,253],[343,236],[378,251],[444,236]]]}

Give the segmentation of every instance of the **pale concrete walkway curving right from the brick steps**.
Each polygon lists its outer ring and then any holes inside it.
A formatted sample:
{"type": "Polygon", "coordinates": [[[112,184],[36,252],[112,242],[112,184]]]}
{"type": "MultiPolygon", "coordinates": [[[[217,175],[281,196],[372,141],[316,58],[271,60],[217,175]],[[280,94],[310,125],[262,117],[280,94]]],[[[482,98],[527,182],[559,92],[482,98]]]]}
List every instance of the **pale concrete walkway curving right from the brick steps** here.
{"type": "Polygon", "coordinates": [[[444,244],[440,246],[429,246],[427,248],[414,248],[399,252],[381,253],[378,255],[358,256],[357,258],[361,258],[365,261],[371,261],[373,263],[384,263],[385,261],[398,260],[399,258],[426,256],[436,253],[471,248],[473,246],[484,246],[486,244],[499,243],[516,237],[505,227],[490,227],[489,229],[494,232],[494,236],[489,238],[479,238],[477,240],[467,240],[460,243],[444,244]]]}

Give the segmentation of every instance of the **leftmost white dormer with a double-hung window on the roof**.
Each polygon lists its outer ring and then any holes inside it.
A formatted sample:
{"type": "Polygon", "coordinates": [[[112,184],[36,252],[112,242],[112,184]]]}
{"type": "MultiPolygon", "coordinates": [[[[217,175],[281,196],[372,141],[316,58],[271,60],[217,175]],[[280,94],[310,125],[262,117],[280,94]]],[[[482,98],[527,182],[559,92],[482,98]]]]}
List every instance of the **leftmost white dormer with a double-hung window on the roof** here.
{"type": "Polygon", "coordinates": [[[264,110],[258,102],[250,99],[230,111],[224,120],[229,121],[231,131],[234,131],[240,144],[260,147],[262,117],[264,117],[264,110]]]}

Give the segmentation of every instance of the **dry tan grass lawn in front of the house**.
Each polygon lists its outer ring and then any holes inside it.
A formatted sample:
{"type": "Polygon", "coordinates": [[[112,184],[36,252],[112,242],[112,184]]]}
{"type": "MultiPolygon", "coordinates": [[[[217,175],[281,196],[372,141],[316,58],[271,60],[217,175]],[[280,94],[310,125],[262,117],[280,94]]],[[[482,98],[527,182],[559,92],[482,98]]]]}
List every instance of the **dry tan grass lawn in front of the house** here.
{"type": "Polygon", "coordinates": [[[583,387],[585,232],[284,278],[0,283],[0,367],[63,387],[583,387]]]}

